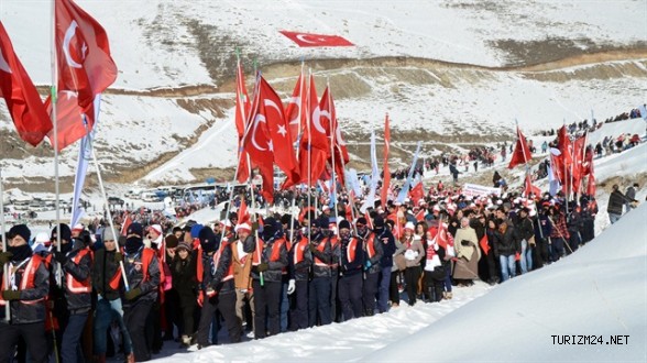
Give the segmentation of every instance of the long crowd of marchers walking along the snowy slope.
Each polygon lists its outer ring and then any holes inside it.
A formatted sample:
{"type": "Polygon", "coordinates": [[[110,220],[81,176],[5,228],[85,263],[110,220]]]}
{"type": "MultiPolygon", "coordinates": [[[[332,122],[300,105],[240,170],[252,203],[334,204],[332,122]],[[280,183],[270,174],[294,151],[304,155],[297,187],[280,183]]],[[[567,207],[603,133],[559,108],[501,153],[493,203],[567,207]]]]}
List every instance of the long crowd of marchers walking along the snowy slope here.
{"type": "MultiPolygon", "coordinates": [[[[614,187],[612,222],[637,188],[614,187]]],[[[329,197],[314,195],[321,208],[299,215],[231,212],[212,226],[116,216],[116,230],[61,224],[34,242],[13,226],[0,253],[0,304],[10,306],[0,359],[105,362],[111,345],[127,362],[147,361],[164,341],[202,349],[451,299],[457,286],[503,283],[575,252],[597,212],[592,196],[458,187],[364,213],[359,199],[340,195],[331,209],[329,197]]]]}

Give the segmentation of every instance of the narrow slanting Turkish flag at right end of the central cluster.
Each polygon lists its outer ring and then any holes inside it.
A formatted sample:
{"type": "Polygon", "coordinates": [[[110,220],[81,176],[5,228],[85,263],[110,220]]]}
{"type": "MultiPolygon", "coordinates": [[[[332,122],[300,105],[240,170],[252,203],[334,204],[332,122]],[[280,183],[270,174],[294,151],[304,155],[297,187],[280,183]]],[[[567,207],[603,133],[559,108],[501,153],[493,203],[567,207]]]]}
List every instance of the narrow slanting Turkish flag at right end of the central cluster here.
{"type": "Polygon", "coordinates": [[[341,129],[337,122],[337,111],[335,110],[335,101],[329,87],[326,87],[324,95],[321,95],[321,101],[319,102],[321,109],[321,118],[328,119],[327,122],[327,135],[329,143],[332,144],[333,153],[328,158],[328,163],[335,165],[335,174],[337,174],[339,183],[343,186],[344,180],[344,166],[350,162],[348,148],[346,147],[346,141],[341,136],[341,129]]]}

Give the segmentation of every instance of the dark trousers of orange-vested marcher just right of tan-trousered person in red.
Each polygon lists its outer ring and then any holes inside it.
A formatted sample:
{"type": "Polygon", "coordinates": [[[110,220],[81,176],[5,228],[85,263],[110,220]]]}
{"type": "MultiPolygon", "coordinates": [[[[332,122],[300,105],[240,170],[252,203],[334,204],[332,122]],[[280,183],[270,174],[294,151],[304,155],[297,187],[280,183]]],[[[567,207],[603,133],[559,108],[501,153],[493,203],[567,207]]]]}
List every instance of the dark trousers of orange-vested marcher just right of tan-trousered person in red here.
{"type": "Polygon", "coordinates": [[[261,286],[261,282],[254,279],[252,282],[254,289],[254,339],[267,337],[265,330],[265,316],[267,317],[267,330],[270,336],[278,334],[281,331],[281,283],[265,282],[261,286]]]}

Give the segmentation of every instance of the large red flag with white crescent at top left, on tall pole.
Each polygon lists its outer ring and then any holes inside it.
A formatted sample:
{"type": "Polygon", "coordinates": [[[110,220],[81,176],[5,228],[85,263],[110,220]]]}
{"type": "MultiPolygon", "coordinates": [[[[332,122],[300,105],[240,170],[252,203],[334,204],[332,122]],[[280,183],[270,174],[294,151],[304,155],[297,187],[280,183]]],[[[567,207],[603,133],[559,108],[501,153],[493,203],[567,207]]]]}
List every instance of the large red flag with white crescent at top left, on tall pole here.
{"type": "MultiPolygon", "coordinates": [[[[95,19],[72,0],[56,1],[55,8],[58,91],[74,92],[80,108],[74,111],[75,117],[56,117],[57,132],[69,133],[59,135],[62,150],[92,130],[94,112],[88,108],[92,107],[95,96],[114,82],[117,66],[110,56],[106,31],[95,19]],[[77,119],[77,112],[85,113],[86,120],[77,119]]],[[[51,132],[50,140],[53,136],[51,132]]]]}

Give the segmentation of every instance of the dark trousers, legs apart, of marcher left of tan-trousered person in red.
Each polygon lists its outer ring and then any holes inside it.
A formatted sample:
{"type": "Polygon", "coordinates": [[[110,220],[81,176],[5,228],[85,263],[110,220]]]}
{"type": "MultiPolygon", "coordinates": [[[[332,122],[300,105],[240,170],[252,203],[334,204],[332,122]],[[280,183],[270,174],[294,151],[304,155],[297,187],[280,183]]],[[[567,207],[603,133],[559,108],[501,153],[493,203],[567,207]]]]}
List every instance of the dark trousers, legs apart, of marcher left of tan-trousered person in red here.
{"type": "MultiPolygon", "coordinates": [[[[211,321],[213,320],[216,311],[220,311],[220,315],[224,319],[224,326],[229,333],[229,341],[232,343],[240,342],[242,322],[235,315],[235,292],[228,292],[205,299],[202,311],[200,314],[200,322],[198,324],[198,344],[201,346],[209,345],[209,328],[211,327],[211,321]]],[[[217,339],[218,332],[215,332],[213,337],[211,337],[213,344],[218,343],[217,339]]]]}

